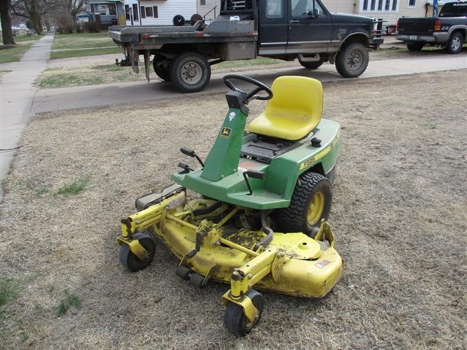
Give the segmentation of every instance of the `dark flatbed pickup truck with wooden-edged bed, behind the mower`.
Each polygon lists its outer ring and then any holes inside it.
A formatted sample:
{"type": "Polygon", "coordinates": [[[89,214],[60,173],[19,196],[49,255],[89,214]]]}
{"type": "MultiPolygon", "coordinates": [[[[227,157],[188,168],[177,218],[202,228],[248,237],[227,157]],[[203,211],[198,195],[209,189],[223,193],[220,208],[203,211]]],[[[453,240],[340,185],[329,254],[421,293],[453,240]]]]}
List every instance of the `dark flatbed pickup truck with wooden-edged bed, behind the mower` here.
{"type": "Polygon", "coordinates": [[[159,78],[192,93],[205,88],[211,65],[258,56],[298,58],[308,69],[335,62],[344,77],[358,77],[367,68],[368,48],[383,43],[378,24],[364,16],[331,14],[319,0],[222,0],[220,15],[209,25],[112,26],[109,36],[135,73],[143,55],[149,80],[154,55],[159,78]]]}

